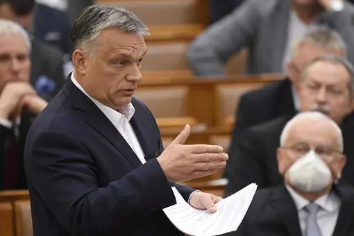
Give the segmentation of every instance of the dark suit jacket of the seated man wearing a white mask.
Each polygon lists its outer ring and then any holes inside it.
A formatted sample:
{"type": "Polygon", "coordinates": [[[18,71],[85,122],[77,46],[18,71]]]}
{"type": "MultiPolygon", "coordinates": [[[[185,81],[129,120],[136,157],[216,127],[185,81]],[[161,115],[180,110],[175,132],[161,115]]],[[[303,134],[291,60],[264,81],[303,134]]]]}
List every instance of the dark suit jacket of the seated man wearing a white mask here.
{"type": "MultiPolygon", "coordinates": [[[[354,235],[354,188],[338,184],[333,192],[341,205],[332,236],[354,235]]],[[[242,224],[235,233],[227,235],[302,236],[298,210],[285,185],[258,189],[242,224]]]]}

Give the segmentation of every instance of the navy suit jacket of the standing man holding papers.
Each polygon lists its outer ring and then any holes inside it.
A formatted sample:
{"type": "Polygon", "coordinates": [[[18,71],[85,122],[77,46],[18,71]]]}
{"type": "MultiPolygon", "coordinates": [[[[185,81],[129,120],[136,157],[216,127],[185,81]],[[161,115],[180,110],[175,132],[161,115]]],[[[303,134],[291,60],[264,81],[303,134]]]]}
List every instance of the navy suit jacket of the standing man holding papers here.
{"type": "Polygon", "coordinates": [[[194,189],[169,183],[155,159],[163,150],[155,119],[132,103],[144,165],[69,78],[37,116],[24,156],[35,236],[180,235],[162,208],[176,203],[171,185],[186,201],[194,189]]]}

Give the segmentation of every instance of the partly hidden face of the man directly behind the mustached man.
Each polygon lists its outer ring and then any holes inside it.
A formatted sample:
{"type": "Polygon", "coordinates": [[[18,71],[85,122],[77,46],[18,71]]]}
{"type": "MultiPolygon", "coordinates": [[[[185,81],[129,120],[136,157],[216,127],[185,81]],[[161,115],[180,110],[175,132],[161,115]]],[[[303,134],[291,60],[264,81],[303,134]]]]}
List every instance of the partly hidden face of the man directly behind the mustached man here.
{"type": "Polygon", "coordinates": [[[325,55],[344,57],[344,51],[336,51],[319,47],[311,42],[304,42],[298,46],[292,60],[287,63],[287,76],[296,86],[301,78],[301,71],[315,58],[325,55]]]}

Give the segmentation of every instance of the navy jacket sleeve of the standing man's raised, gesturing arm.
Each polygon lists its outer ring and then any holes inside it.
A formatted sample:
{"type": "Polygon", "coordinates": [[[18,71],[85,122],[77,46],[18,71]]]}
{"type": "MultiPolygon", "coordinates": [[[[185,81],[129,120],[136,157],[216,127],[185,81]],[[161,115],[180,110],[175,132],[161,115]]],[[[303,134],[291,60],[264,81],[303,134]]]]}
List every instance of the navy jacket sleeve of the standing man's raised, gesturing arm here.
{"type": "Polygon", "coordinates": [[[90,153],[61,131],[41,133],[27,144],[26,154],[31,191],[41,197],[69,235],[108,235],[136,214],[150,214],[176,203],[157,160],[99,187],[90,153]]]}

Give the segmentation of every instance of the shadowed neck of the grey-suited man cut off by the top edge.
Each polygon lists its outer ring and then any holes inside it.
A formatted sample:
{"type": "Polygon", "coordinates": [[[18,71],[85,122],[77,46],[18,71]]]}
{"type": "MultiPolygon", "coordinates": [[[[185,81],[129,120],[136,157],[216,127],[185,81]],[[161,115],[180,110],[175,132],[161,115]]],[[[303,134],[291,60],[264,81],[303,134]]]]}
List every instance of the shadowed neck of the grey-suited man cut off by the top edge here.
{"type": "Polygon", "coordinates": [[[292,1],[292,10],[298,15],[298,17],[306,24],[314,22],[314,18],[323,12],[324,8],[319,3],[313,3],[311,6],[304,6],[292,1]]]}

